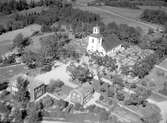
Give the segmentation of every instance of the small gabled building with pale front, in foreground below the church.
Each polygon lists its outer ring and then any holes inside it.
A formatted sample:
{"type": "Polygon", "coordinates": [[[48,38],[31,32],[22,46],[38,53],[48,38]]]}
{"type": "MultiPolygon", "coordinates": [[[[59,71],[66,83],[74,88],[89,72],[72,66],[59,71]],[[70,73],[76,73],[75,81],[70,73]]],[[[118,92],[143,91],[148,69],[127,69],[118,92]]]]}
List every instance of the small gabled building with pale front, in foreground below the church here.
{"type": "Polygon", "coordinates": [[[84,105],[91,99],[93,93],[94,89],[90,84],[83,84],[82,86],[77,87],[70,92],[70,102],[84,105]]]}

